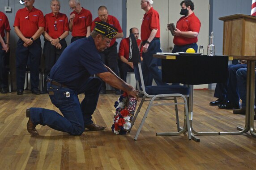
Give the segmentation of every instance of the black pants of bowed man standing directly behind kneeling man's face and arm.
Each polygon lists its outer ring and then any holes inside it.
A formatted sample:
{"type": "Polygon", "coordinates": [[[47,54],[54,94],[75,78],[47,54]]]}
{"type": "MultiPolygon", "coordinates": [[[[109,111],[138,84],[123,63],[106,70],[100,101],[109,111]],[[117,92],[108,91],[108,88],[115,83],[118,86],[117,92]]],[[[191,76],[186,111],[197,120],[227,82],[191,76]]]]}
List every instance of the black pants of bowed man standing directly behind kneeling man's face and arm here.
{"type": "MultiPolygon", "coordinates": [[[[117,42],[115,42],[115,44],[111,47],[105,49],[102,53],[100,53],[100,55],[103,63],[113,70],[116,75],[118,75],[118,54],[116,45],[117,42]]],[[[106,83],[104,81],[102,81],[102,90],[106,90],[106,83]]]]}

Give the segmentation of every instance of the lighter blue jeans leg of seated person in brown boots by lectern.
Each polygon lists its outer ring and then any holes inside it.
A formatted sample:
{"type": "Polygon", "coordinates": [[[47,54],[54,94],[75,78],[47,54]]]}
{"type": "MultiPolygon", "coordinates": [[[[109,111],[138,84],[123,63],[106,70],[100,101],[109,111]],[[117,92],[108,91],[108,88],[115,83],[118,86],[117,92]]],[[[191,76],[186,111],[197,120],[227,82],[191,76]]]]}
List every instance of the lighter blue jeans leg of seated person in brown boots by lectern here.
{"type": "MultiPolygon", "coordinates": [[[[247,68],[238,69],[236,72],[236,77],[237,77],[237,85],[238,85],[239,95],[242,100],[242,107],[245,107],[246,106],[247,68]]],[[[256,93],[256,91],[255,91],[255,93],[256,93]]],[[[255,96],[256,96],[256,94],[255,94],[255,96]]]]}

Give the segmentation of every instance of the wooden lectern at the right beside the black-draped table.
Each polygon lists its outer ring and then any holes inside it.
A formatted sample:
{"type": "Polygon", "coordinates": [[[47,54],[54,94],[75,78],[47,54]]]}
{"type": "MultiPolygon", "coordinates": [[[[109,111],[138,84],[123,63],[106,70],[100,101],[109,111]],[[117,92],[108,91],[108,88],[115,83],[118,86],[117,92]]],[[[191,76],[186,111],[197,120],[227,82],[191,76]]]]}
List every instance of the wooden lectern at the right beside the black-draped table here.
{"type": "Polygon", "coordinates": [[[224,21],[223,55],[239,60],[256,60],[256,17],[235,14],[224,21]]]}

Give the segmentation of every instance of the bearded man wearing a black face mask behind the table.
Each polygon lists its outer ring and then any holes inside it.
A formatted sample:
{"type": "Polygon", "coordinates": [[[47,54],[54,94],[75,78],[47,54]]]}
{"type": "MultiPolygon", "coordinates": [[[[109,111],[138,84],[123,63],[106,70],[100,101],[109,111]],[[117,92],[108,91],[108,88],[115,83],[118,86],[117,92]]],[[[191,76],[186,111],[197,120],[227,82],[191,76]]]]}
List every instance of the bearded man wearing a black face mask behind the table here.
{"type": "MultiPolygon", "coordinates": [[[[200,31],[201,22],[196,17],[194,10],[194,3],[191,0],[183,0],[180,3],[182,16],[176,24],[174,31],[174,48],[172,53],[186,52],[187,49],[192,48],[197,51],[197,36],[200,31]]],[[[167,28],[170,30],[169,26],[167,28]]]]}

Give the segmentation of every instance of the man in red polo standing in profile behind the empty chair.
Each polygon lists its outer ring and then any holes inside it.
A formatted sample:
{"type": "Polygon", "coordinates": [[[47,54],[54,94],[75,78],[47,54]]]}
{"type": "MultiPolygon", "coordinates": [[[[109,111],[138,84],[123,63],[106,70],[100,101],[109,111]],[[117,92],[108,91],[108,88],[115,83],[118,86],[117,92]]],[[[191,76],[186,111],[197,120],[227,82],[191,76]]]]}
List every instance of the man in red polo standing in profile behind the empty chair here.
{"type": "Polygon", "coordinates": [[[152,85],[153,78],[157,85],[168,85],[162,82],[162,71],[157,65],[158,59],[153,57],[153,54],[161,52],[159,14],[153,8],[153,0],[141,0],[141,9],[146,12],[141,24],[142,73],[145,86],[152,85]]]}

